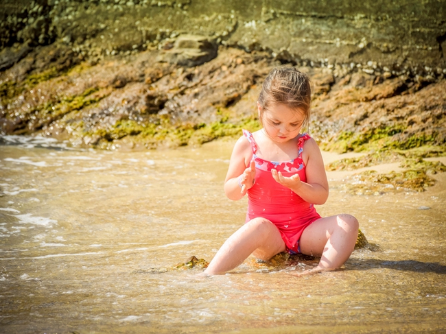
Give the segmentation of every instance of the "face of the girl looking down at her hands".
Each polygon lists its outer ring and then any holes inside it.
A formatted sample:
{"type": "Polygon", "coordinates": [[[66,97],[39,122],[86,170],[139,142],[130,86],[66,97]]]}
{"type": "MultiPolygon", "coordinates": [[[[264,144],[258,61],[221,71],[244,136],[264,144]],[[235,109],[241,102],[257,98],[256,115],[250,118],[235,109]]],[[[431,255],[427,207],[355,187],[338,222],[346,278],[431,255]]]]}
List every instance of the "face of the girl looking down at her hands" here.
{"type": "Polygon", "coordinates": [[[303,126],[305,115],[302,110],[291,109],[284,104],[272,104],[268,109],[261,110],[257,102],[261,123],[266,134],[277,143],[285,143],[295,138],[303,126]]]}

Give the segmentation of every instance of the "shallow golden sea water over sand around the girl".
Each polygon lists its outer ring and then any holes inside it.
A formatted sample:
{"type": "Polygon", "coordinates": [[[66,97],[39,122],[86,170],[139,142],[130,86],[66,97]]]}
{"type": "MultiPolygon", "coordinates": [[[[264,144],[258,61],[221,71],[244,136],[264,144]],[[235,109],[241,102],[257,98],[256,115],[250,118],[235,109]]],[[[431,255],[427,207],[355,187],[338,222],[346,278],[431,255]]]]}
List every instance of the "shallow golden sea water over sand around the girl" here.
{"type": "MultiPolygon", "coordinates": [[[[373,248],[341,270],[298,263],[229,274],[163,268],[210,261],[244,222],[224,197],[233,143],[150,152],[0,146],[1,333],[445,333],[446,177],[423,193],[331,194],[373,248]]],[[[325,158],[333,159],[327,154],[325,158]]],[[[336,158],[336,157],[335,157],[336,158]]],[[[326,161],[327,162],[327,161],[326,161]]]]}

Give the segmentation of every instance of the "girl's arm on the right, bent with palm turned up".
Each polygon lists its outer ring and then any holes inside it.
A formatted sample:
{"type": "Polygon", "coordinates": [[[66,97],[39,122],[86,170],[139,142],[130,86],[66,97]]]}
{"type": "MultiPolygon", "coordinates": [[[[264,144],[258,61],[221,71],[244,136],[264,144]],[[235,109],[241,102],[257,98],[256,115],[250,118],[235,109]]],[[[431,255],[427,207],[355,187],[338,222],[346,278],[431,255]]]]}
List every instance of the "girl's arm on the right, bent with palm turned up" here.
{"type": "Polygon", "coordinates": [[[327,174],[325,174],[324,161],[320,153],[318,144],[314,139],[305,142],[304,152],[307,155],[305,164],[305,175],[307,182],[301,181],[298,174],[286,178],[276,170],[272,170],[274,180],[283,186],[290,188],[294,193],[301,196],[303,200],[312,204],[324,204],[327,202],[329,187],[327,174]]]}

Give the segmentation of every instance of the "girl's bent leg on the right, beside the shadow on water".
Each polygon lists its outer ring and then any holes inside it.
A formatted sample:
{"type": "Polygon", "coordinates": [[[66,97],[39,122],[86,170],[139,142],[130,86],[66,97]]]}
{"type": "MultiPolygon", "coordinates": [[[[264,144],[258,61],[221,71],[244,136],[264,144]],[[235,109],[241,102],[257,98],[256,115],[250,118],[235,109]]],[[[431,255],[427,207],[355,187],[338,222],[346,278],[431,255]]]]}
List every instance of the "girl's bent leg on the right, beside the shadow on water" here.
{"type": "Polygon", "coordinates": [[[357,219],[351,215],[320,218],[305,228],[301,252],[320,257],[312,271],[333,270],[343,265],[355,248],[358,228],[357,219]]]}

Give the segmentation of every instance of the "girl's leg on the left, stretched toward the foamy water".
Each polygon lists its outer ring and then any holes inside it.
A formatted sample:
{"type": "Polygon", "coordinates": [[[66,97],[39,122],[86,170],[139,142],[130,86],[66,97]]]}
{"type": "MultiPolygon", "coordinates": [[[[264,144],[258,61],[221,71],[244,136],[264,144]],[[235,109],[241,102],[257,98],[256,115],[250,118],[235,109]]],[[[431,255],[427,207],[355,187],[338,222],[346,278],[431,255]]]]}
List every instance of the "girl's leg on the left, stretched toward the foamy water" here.
{"type": "Polygon", "coordinates": [[[283,250],[285,243],[277,227],[268,219],[255,218],[226,240],[204,274],[222,274],[232,270],[253,252],[259,259],[269,260],[283,250]]]}

